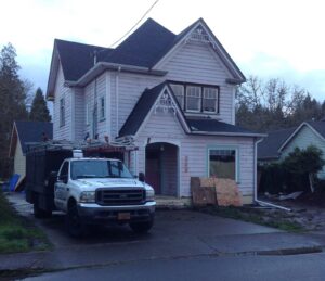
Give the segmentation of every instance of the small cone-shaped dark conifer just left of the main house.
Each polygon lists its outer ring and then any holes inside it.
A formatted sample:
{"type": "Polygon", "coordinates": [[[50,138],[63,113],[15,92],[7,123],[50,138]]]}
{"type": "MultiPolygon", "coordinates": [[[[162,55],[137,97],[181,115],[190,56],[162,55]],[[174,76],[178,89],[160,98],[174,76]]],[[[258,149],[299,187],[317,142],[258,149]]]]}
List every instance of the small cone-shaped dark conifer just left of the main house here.
{"type": "Polygon", "coordinates": [[[37,89],[32,100],[31,110],[29,113],[30,120],[50,122],[51,116],[44,100],[43,92],[40,88],[37,89]]]}

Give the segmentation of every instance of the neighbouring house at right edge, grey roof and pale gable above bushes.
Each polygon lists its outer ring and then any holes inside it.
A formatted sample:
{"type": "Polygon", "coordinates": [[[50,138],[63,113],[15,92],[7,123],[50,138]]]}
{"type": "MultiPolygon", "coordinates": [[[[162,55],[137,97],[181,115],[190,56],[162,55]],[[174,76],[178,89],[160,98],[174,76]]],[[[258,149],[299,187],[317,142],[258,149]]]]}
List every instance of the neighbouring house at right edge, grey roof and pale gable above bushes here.
{"type": "MultiPolygon", "coordinates": [[[[304,122],[295,128],[269,132],[258,144],[258,161],[283,161],[295,148],[307,149],[309,145],[322,150],[325,159],[325,120],[304,122]]],[[[318,178],[325,179],[325,167],[318,173],[318,178]]]]}

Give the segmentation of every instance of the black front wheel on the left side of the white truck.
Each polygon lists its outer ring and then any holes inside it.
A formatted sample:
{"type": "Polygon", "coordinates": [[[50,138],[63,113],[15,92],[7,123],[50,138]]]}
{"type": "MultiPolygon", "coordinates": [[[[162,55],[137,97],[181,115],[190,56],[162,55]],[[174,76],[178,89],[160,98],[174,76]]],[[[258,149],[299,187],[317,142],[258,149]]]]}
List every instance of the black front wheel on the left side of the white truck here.
{"type": "Polygon", "coordinates": [[[87,226],[82,223],[76,205],[70,206],[66,214],[66,229],[73,238],[81,238],[87,234],[87,226]]]}

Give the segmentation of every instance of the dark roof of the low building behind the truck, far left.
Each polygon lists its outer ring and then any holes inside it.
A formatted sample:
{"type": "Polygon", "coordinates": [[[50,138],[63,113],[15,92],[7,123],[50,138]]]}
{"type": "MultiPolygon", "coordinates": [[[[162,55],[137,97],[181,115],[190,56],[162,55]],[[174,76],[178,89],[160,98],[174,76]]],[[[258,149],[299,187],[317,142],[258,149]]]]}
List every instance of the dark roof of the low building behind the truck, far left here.
{"type": "Polygon", "coordinates": [[[42,141],[44,132],[49,139],[53,139],[53,123],[49,122],[15,122],[23,153],[26,153],[27,142],[42,141]]]}

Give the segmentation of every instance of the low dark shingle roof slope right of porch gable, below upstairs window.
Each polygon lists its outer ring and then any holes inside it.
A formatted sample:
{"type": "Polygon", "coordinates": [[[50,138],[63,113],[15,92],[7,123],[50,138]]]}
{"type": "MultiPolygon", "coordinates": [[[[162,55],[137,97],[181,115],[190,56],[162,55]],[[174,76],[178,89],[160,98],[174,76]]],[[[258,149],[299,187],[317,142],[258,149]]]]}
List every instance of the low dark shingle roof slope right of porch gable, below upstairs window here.
{"type": "Polygon", "coordinates": [[[242,127],[219,122],[212,118],[188,118],[187,117],[186,122],[193,132],[207,131],[207,132],[244,133],[244,135],[256,133],[253,131],[244,129],[242,127]]]}

